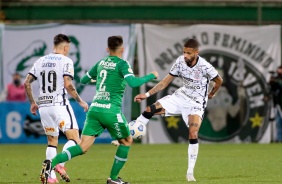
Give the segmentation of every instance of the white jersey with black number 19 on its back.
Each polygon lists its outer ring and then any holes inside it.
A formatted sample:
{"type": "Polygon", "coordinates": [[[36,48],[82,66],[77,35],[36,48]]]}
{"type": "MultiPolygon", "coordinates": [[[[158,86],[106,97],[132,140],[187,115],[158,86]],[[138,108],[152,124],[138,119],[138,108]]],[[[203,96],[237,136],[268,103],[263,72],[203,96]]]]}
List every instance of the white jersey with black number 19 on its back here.
{"type": "Polygon", "coordinates": [[[62,54],[48,54],[34,63],[29,74],[39,82],[39,107],[69,104],[64,76],[74,76],[70,58],[62,54]]]}

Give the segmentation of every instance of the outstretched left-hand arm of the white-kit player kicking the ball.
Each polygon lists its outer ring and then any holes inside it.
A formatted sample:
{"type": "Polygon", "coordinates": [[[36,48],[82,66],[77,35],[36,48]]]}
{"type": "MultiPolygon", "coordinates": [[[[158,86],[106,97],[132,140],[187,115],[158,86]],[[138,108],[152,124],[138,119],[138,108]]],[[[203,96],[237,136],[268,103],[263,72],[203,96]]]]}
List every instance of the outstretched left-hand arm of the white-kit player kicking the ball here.
{"type": "Polygon", "coordinates": [[[151,95],[154,95],[155,93],[165,89],[169,83],[171,83],[171,81],[173,81],[173,79],[175,78],[175,76],[168,74],[163,80],[161,80],[157,85],[155,85],[155,87],[153,87],[152,89],[150,89],[147,93],[143,93],[143,94],[139,94],[137,96],[134,97],[134,101],[136,102],[141,102],[141,100],[144,100],[146,98],[148,98],[151,95]]]}

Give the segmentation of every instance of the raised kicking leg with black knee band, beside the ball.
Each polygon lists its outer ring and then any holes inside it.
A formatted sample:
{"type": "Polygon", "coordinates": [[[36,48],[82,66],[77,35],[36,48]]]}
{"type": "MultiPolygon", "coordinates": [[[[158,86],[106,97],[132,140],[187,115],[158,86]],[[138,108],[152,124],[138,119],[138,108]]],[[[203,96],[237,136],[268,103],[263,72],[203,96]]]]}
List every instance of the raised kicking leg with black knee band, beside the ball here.
{"type": "Polygon", "coordinates": [[[149,120],[158,114],[164,114],[165,109],[162,107],[160,102],[155,102],[154,104],[147,106],[145,111],[136,119],[137,121],[142,122],[144,125],[147,125],[149,120]]]}

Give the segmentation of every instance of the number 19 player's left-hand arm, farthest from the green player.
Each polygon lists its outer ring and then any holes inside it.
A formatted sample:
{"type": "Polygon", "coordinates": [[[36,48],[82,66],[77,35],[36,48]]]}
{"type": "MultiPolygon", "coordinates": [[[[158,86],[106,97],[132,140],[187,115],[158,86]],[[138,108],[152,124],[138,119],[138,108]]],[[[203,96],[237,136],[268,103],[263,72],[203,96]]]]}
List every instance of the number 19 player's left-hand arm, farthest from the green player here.
{"type": "Polygon", "coordinates": [[[34,115],[36,114],[36,111],[38,109],[38,105],[36,104],[34,98],[33,98],[33,93],[32,93],[32,88],[31,88],[31,83],[35,81],[35,76],[31,74],[27,74],[25,81],[24,81],[24,88],[26,92],[26,96],[30,102],[30,112],[34,115]]]}

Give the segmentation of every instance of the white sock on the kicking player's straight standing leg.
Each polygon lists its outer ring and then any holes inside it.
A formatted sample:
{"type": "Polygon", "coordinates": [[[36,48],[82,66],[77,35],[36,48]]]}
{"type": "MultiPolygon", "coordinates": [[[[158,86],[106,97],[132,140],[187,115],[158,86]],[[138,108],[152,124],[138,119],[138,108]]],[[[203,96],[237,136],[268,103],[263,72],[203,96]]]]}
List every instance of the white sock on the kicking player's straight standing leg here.
{"type": "Polygon", "coordinates": [[[194,167],[197,161],[199,151],[199,143],[197,144],[189,144],[188,146],[188,170],[187,174],[194,173],[194,167]]]}

